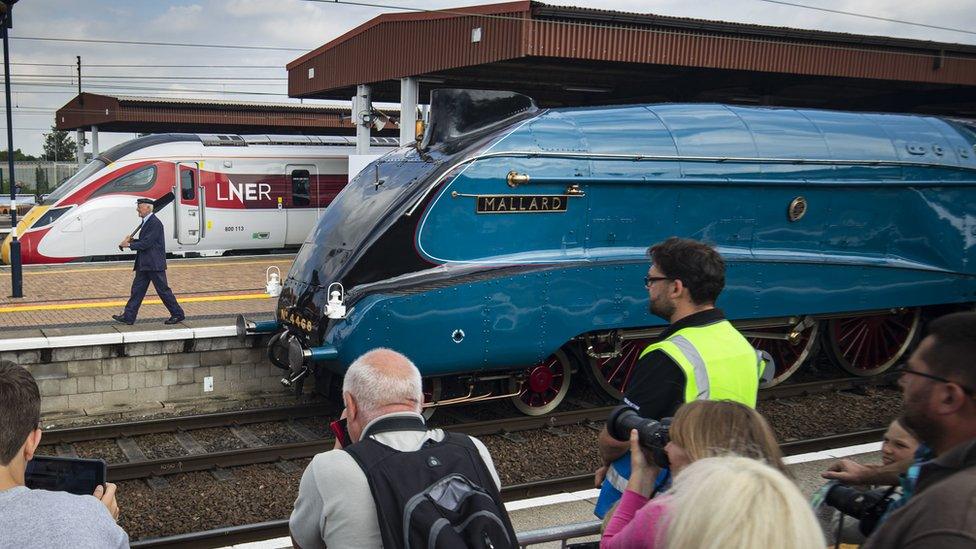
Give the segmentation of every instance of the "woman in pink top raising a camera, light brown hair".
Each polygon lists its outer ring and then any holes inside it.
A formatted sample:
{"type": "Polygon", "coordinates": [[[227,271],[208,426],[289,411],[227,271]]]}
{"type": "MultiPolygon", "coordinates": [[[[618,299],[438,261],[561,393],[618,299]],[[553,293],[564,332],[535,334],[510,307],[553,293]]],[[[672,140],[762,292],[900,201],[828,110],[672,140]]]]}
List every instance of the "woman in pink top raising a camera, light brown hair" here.
{"type": "MultiPolygon", "coordinates": [[[[683,405],[674,415],[670,438],[664,450],[675,477],[695,460],[729,454],[765,461],[787,473],[769,424],[758,412],[737,402],[696,400],[683,405]]],[[[658,468],[645,452],[637,431],[631,431],[630,480],[603,532],[601,548],[664,547],[674,490],[649,499],[658,468]]],[[[680,481],[675,484],[680,485],[680,481]]]]}

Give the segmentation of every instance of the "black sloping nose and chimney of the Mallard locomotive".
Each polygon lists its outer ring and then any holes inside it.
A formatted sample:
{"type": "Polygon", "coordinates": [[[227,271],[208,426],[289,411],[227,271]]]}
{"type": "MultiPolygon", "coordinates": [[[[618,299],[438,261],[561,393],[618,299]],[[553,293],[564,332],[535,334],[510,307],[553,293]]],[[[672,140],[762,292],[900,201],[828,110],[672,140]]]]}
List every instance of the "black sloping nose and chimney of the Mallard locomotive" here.
{"type": "Polygon", "coordinates": [[[532,100],[519,94],[436,92],[423,142],[388,153],[342,190],[295,258],[275,320],[242,320],[239,327],[242,335],[271,334],[269,358],[287,370],[285,385],[312,372],[342,375],[363,352],[412,337],[390,327],[396,323],[388,322],[389,315],[399,313],[386,303],[412,295],[418,279],[429,281],[446,268],[416,242],[433,190],[500,131],[536,112],[532,100]]]}

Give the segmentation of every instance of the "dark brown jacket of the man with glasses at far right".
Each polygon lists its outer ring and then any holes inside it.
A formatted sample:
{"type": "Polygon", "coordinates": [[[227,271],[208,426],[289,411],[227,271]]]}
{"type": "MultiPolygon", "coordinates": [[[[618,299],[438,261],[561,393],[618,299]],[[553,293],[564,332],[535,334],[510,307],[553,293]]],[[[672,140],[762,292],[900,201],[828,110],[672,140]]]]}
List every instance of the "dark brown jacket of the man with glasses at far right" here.
{"type": "Polygon", "coordinates": [[[976,439],[924,463],[915,493],[865,549],[976,547],[976,439]]]}

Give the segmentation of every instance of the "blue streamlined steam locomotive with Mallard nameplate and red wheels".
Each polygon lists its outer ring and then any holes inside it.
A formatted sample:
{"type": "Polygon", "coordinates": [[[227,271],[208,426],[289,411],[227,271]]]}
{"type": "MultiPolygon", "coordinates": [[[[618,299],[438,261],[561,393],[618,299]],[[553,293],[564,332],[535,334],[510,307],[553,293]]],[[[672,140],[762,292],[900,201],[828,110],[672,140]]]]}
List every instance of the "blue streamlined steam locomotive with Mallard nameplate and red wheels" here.
{"type": "Polygon", "coordinates": [[[619,396],[663,328],[650,244],[714,244],[718,306],[780,382],[823,351],[895,364],[929,312],[976,302],[976,127],[714,104],[539,109],[441,90],[423,140],[368,166],[288,273],[272,361],[291,381],[390,347],[438,403],[542,414],[583,373],[619,396]]]}

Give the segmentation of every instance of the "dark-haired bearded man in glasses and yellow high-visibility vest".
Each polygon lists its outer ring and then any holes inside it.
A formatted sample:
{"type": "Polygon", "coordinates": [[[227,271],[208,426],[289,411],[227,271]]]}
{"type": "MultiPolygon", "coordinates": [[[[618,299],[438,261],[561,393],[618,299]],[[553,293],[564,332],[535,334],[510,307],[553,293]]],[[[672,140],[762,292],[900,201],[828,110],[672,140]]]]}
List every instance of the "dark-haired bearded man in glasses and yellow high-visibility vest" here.
{"type": "MultiPolygon", "coordinates": [[[[660,420],[692,400],[733,400],[756,406],[760,379],[772,361],[749,344],[715,300],[725,287],[725,262],[711,246],[671,237],[648,249],[651,266],[644,278],[654,315],[670,322],[658,341],[641,353],[624,403],[641,417],[660,420]]],[[[630,476],[629,442],[604,428],[599,437],[604,466],[597,470],[603,517],[616,503],[630,476]]]]}

